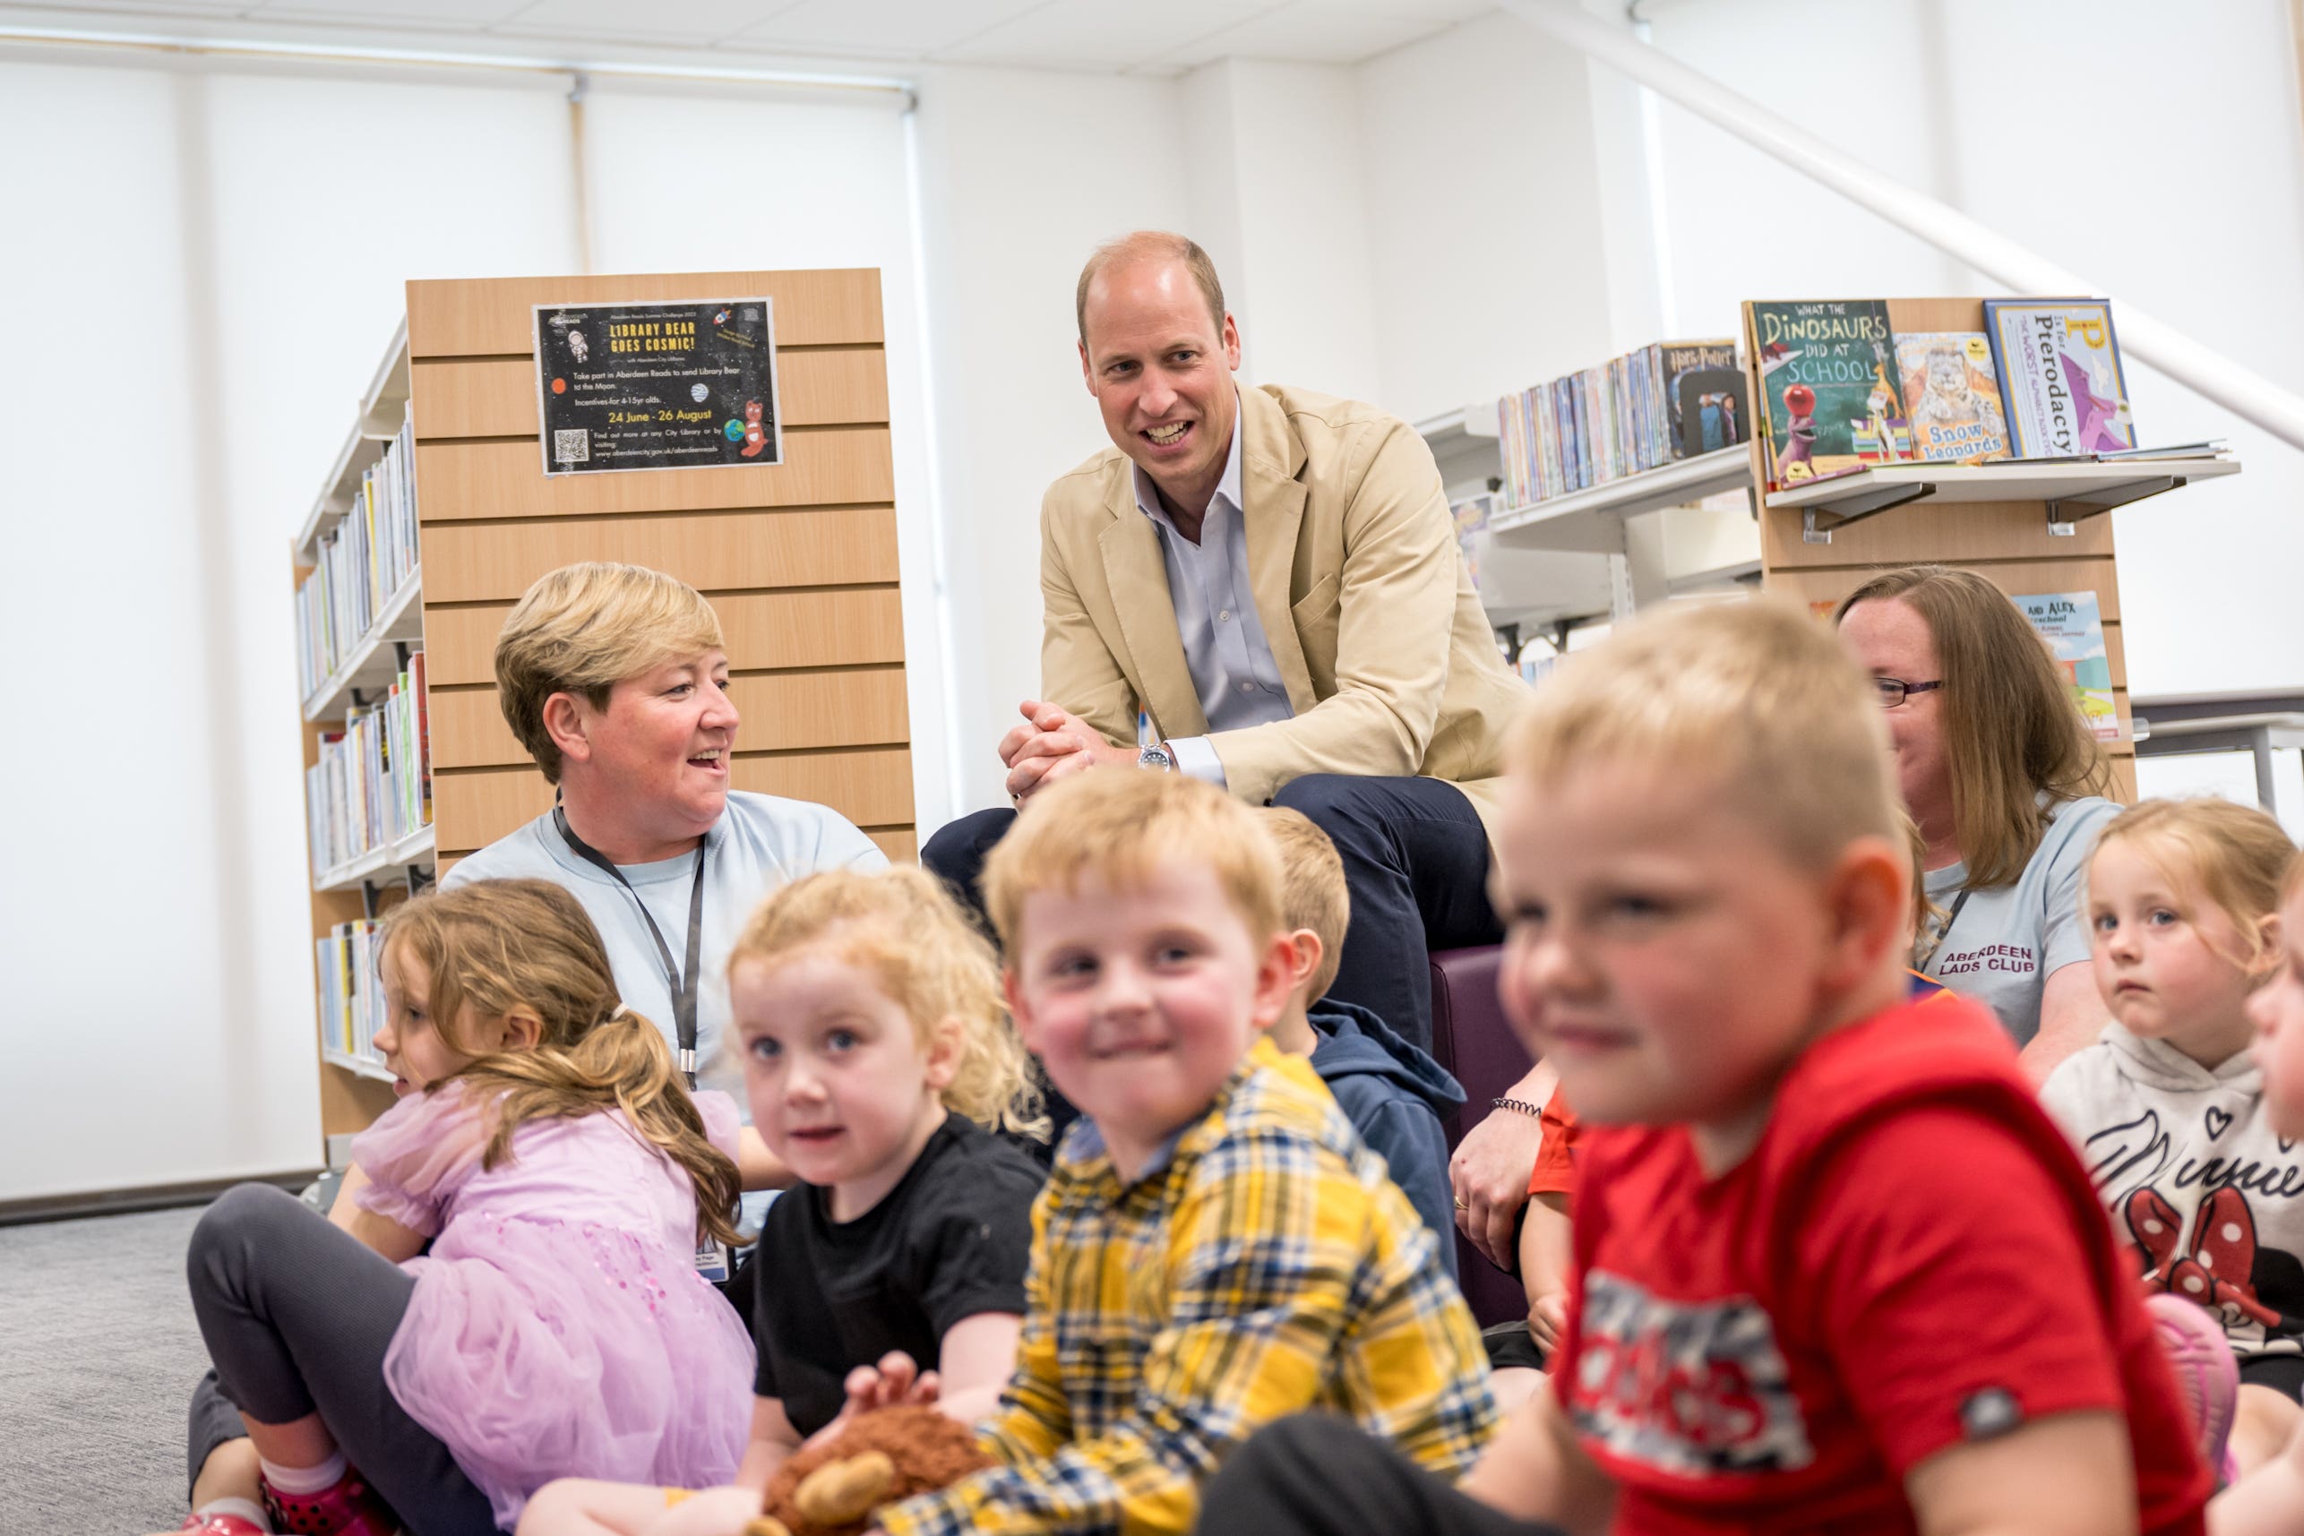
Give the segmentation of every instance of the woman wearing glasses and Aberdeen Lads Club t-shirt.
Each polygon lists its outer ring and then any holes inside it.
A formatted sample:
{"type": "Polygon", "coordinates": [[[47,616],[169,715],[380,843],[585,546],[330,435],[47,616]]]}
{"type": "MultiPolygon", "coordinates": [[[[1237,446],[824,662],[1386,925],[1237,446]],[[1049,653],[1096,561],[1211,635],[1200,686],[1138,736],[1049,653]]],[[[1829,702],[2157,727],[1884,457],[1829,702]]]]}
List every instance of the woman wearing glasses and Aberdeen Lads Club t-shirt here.
{"type": "MultiPolygon", "coordinates": [[[[2081,870],[2120,806],[2032,624],[1975,571],[1885,571],[1839,606],[1873,675],[1945,917],[1922,969],[1988,1004],[2034,1082],[2097,1036],[2081,870]]],[[[1924,935],[1924,944],[1926,944],[1924,935]]]]}

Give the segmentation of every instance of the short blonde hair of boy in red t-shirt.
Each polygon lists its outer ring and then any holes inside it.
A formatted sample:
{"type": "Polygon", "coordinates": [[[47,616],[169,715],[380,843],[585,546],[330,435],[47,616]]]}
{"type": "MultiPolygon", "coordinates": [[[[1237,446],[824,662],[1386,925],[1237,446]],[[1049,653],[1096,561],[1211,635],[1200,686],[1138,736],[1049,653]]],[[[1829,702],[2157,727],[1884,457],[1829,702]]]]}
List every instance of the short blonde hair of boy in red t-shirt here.
{"type": "Polygon", "coordinates": [[[1905,850],[1887,723],[1829,629],[1779,599],[1670,606],[1537,689],[1511,767],[1537,783],[1597,762],[1703,776],[1802,868],[1857,838],[1905,850]]]}

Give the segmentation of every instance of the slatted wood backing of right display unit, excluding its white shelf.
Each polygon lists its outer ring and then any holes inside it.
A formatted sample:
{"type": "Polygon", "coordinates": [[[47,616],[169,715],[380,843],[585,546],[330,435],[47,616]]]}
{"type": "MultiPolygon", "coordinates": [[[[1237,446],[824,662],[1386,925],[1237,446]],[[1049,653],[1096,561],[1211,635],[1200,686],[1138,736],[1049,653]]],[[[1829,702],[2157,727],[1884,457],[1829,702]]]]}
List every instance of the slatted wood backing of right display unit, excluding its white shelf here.
{"type": "MultiPolygon", "coordinates": [[[[1889,327],[1903,332],[1981,332],[1984,299],[1889,299],[1889,327]]],[[[1746,357],[1751,348],[1746,343],[1746,357]]],[[[1753,401],[1760,396],[1758,364],[1753,401]]],[[[1753,484],[1767,484],[1758,433],[1751,442],[1753,484]]],[[[2136,799],[2136,742],[2129,716],[2129,652],[2120,622],[2120,562],[2113,518],[2074,525],[2071,537],[2048,532],[2046,502],[1912,502],[1832,532],[1832,543],[1804,543],[1797,509],[1760,514],[1760,583],[1804,603],[1839,601],[1889,567],[1951,564],[1977,571],[2002,592],[2094,592],[2104,617],[2104,652],[2113,672],[2120,742],[2106,742],[2113,774],[2136,799]]]]}

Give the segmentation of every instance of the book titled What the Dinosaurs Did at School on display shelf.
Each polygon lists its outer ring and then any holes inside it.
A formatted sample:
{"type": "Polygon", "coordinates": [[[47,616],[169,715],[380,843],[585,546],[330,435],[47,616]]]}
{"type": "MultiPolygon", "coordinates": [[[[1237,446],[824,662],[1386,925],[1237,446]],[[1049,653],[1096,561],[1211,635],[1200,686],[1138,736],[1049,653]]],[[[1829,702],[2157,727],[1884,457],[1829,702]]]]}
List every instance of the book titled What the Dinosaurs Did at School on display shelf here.
{"type": "Polygon", "coordinates": [[[1912,424],[1896,375],[1896,334],[1882,299],[1744,304],[1760,375],[1767,488],[1905,463],[1912,424]]]}

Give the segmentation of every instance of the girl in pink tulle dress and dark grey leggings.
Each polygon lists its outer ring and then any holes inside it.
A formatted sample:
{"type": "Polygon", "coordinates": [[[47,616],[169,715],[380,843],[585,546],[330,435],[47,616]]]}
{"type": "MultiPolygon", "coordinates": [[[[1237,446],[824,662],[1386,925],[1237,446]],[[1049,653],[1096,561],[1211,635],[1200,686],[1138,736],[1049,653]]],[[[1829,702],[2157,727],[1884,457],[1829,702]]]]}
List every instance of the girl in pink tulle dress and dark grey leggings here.
{"type": "Polygon", "coordinates": [[[735,1103],[684,1089],[555,884],[410,900],[382,974],[403,1096],[353,1142],[353,1232],[249,1188],[194,1237],[272,1527],[479,1536],[555,1476],[728,1481],[753,1349],[696,1255],[733,1237],[735,1103]]]}

